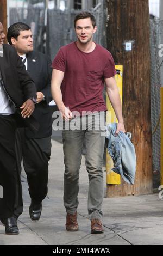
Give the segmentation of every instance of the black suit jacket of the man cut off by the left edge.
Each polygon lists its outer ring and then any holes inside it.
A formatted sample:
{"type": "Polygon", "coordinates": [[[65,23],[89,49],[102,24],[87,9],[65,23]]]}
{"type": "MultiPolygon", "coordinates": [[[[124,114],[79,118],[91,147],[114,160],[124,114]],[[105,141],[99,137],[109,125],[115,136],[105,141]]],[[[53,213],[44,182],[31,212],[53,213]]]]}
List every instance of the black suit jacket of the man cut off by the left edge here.
{"type": "Polygon", "coordinates": [[[30,97],[36,97],[36,88],[14,47],[7,44],[3,45],[0,69],[5,91],[16,107],[15,117],[18,126],[28,126],[33,132],[37,131],[39,123],[33,116],[29,118],[22,118],[21,116],[20,107],[30,97]]]}

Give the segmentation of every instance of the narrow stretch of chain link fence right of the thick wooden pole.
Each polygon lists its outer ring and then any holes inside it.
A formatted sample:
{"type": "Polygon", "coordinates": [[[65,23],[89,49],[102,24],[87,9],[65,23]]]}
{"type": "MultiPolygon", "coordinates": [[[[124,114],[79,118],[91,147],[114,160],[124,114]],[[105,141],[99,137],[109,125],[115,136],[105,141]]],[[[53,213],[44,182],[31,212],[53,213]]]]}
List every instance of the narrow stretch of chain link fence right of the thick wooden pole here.
{"type": "Polygon", "coordinates": [[[150,26],[153,172],[160,173],[160,87],[163,86],[163,57],[160,47],[163,44],[163,20],[151,20],[150,26]]]}

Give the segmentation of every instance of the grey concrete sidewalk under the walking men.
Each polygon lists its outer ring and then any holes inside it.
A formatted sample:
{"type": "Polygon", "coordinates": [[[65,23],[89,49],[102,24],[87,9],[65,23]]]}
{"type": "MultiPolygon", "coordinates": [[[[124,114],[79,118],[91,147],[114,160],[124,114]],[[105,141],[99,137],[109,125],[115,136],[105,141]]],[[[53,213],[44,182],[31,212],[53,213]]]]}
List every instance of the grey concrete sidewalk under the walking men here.
{"type": "Polygon", "coordinates": [[[79,231],[67,232],[66,212],[62,202],[63,158],[62,144],[52,141],[48,196],[43,200],[39,222],[30,220],[27,179],[22,174],[24,211],[18,219],[20,235],[5,235],[4,227],[0,224],[0,245],[163,245],[163,202],[159,200],[158,194],[104,198],[105,233],[90,233],[90,220],[87,216],[88,179],[84,156],[79,180],[79,231]]]}

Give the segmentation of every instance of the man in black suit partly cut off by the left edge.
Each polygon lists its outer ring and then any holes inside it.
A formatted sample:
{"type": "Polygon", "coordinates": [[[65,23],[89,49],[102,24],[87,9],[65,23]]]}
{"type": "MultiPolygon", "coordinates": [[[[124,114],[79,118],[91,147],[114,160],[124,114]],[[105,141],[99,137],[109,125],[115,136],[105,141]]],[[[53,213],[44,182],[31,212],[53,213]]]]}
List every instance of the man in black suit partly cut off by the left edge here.
{"type": "Polygon", "coordinates": [[[28,126],[33,131],[39,124],[32,116],[36,88],[17,52],[4,42],[0,22],[0,220],[5,233],[19,233],[14,218],[16,194],[15,137],[17,127],[28,126]]]}

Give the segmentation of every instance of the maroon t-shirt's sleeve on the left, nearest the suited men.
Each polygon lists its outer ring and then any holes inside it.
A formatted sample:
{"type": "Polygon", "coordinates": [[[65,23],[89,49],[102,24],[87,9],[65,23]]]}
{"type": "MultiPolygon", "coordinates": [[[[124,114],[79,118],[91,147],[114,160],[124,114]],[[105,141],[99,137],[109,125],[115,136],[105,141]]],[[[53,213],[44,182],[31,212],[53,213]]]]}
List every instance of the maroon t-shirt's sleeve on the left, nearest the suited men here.
{"type": "Polygon", "coordinates": [[[65,72],[66,70],[65,57],[61,49],[58,51],[57,55],[53,59],[52,68],[60,70],[62,72],[65,72]]]}

